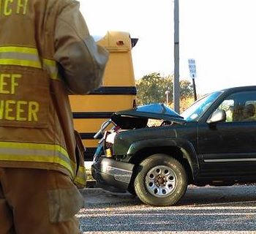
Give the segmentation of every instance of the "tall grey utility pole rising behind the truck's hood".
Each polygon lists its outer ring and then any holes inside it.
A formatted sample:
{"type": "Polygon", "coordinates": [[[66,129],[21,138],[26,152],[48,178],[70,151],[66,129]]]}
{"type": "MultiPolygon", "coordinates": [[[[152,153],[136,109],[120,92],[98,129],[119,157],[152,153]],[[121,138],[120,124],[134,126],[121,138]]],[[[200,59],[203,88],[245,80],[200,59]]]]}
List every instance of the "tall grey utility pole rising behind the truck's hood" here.
{"type": "Polygon", "coordinates": [[[178,22],[178,0],[174,0],[174,80],[173,80],[173,102],[174,110],[179,113],[179,26],[178,22]]]}

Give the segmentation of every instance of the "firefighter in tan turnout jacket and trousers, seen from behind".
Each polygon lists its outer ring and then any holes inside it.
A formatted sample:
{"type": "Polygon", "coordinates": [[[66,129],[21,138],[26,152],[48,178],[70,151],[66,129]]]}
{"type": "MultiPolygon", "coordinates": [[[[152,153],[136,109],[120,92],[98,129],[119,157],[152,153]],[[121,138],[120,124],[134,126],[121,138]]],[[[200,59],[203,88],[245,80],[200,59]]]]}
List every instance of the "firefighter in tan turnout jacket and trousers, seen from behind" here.
{"type": "Polygon", "coordinates": [[[97,88],[107,61],[77,1],[0,0],[1,234],[80,232],[86,173],[68,94],[97,88]]]}

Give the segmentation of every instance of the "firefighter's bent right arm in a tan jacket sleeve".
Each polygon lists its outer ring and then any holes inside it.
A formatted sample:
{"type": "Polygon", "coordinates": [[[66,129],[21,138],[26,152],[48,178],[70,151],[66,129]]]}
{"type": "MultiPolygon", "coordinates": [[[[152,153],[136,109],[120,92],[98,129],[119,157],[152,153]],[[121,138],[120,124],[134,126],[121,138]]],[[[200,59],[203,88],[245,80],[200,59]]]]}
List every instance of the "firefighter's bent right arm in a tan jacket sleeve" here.
{"type": "Polygon", "coordinates": [[[57,19],[55,59],[72,94],[86,94],[102,83],[108,52],[94,42],[78,2],[65,6],[57,19]]]}

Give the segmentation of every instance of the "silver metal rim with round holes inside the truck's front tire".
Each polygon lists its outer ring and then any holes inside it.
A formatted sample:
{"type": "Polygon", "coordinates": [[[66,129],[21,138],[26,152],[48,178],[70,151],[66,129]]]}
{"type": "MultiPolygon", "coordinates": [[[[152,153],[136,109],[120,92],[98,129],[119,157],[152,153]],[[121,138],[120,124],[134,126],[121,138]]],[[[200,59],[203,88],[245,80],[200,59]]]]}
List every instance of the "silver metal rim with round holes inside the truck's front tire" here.
{"type": "Polygon", "coordinates": [[[176,189],[177,176],[167,166],[159,165],[151,168],[146,174],[146,188],[155,197],[167,197],[176,189]]]}

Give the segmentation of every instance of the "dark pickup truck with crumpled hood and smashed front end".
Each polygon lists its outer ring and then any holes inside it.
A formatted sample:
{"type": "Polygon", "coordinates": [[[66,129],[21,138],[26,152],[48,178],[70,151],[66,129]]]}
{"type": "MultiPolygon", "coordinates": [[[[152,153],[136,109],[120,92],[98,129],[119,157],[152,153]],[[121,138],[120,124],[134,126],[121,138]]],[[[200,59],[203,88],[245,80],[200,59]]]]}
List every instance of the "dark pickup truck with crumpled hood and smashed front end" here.
{"type": "Polygon", "coordinates": [[[255,182],[255,107],[256,86],[246,86],[208,94],[181,115],[163,104],[114,113],[99,131],[92,174],[149,205],[178,203],[188,184],[255,182]]]}

